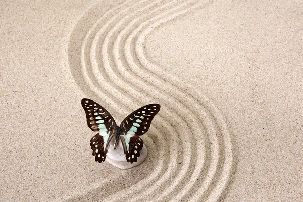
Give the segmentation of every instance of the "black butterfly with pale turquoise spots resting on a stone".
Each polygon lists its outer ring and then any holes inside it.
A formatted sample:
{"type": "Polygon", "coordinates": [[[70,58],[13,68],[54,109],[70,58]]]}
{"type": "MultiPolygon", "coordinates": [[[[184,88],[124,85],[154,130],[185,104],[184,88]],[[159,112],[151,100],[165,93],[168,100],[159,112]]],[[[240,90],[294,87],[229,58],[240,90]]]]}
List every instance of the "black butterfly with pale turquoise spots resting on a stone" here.
{"type": "Polygon", "coordinates": [[[114,137],[114,150],[120,139],[127,162],[137,162],[143,148],[143,140],[139,136],[148,131],[151,121],[160,111],[160,105],[149,104],[137,109],[128,115],[119,127],[112,115],[93,100],[84,98],[81,104],[88,127],[98,132],[90,140],[95,161],[99,163],[105,161],[110,142],[114,137]]]}

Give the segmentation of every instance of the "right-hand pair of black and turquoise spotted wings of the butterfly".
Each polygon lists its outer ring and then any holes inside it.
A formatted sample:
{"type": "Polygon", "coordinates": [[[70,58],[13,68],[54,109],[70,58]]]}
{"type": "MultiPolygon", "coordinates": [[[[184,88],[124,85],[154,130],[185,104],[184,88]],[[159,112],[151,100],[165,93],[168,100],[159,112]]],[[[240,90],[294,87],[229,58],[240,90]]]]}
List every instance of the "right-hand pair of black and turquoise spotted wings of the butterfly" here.
{"type": "Polygon", "coordinates": [[[151,121],[159,111],[159,104],[149,104],[137,109],[122,121],[120,138],[128,162],[137,162],[143,148],[143,140],[139,136],[148,131],[151,121]]]}

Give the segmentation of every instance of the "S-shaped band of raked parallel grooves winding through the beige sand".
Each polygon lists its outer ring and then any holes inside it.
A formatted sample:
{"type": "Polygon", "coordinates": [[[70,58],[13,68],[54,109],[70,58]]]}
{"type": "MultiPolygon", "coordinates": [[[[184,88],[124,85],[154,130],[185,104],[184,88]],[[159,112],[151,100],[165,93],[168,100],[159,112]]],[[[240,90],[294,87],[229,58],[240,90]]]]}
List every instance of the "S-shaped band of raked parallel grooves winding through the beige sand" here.
{"type": "MultiPolygon", "coordinates": [[[[158,148],[157,166],[149,176],[130,188],[113,194],[90,190],[85,198],[217,200],[232,166],[231,142],[224,119],[205,96],[193,90],[186,92],[190,86],[178,83],[176,78],[151,64],[142,49],[144,38],[155,27],[203,4],[168,1],[135,4],[136,7],[126,2],[99,18],[95,16],[102,5],[95,5],[86,12],[71,34],[69,65],[79,87],[91,98],[121,109],[108,107],[116,116],[129,113],[131,103],[136,104],[132,110],[150,99],[161,103],[161,113],[153,123],[157,129],[151,128],[146,134],[157,136],[162,142],[158,148]],[[81,30],[87,20],[94,23],[81,30]],[[79,67],[82,67],[81,72],[79,67]],[[138,96],[141,96],[140,104],[137,103],[138,96]],[[138,194],[140,191],[144,194],[138,194]]],[[[100,182],[99,186],[110,185],[100,182]]]]}

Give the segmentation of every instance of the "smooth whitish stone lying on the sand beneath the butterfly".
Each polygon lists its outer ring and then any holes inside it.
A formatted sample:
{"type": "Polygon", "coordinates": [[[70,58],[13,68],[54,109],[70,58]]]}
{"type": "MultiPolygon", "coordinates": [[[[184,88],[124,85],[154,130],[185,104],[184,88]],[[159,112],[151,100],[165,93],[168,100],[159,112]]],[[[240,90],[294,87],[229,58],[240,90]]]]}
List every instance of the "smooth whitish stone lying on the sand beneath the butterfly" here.
{"type": "Polygon", "coordinates": [[[119,140],[118,146],[116,150],[114,150],[114,138],[113,138],[105,160],[120,169],[130,169],[132,167],[138,166],[139,164],[143,163],[146,156],[147,156],[147,148],[143,144],[143,148],[140,151],[140,157],[137,158],[137,162],[134,162],[132,164],[127,162],[123,151],[121,140],[119,140]]]}

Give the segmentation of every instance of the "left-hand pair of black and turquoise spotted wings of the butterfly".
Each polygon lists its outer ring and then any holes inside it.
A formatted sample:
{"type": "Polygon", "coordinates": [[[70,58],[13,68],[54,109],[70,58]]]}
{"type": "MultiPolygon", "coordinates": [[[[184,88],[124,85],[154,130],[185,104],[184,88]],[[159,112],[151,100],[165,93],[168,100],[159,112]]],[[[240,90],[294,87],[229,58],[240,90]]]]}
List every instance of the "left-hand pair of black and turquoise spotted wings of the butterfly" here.
{"type": "Polygon", "coordinates": [[[105,161],[109,143],[112,140],[116,128],[116,122],[110,113],[102,106],[90,99],[82,99],[82,107],[86,114],[88,127],[92,131],[98,131],[90,140],[92,155],[95,161],[105,161]]]}

